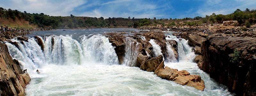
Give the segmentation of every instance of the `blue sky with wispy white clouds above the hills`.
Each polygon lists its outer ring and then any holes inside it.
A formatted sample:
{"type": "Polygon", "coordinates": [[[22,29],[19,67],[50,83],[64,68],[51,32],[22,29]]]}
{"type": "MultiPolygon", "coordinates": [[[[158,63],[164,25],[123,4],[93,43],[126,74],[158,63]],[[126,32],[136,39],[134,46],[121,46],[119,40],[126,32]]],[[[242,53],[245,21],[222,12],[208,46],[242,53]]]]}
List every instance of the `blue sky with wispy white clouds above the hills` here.
{"type": "Polygon", "coordinates": [[[256,9],[256,0],[0,0],[0,7],[50,16],[174,19],[256,9]]]}

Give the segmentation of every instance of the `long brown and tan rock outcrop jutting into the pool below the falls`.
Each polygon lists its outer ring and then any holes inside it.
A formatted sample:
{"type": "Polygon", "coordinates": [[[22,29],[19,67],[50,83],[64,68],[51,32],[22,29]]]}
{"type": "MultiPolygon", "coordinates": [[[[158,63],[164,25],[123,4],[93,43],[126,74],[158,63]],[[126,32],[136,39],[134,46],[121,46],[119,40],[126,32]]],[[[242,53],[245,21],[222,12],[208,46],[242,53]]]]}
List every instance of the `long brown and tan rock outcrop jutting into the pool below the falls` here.
{"type": "Polygon", "coordinates": [[[148,56],[139,54],[137,57],[137,62],[140,63],[140,69],[154,72],[154,74],[163,79],[174,81],[181,85],[192,86],[202,91],[205,88],[204,80],[202,80],[200,76],[190,75],[190,73],[186,70],[178,71],[177,69],[164,67],[162,55],[150,58],[148,56]]]}

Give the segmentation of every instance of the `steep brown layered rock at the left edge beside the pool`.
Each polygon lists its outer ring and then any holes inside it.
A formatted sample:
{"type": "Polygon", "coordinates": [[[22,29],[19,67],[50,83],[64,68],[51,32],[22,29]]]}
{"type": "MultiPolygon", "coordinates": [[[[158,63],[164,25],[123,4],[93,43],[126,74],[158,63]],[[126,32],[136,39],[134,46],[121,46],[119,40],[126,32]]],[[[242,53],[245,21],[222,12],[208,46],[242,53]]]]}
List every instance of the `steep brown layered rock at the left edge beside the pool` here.
{"type": "Polygon", "coordinates": [[[0,87],[3,96],[25,96],[28,74],[21,74],[18,60],[12,60],[7,46],[0,42],[0,87]]]}

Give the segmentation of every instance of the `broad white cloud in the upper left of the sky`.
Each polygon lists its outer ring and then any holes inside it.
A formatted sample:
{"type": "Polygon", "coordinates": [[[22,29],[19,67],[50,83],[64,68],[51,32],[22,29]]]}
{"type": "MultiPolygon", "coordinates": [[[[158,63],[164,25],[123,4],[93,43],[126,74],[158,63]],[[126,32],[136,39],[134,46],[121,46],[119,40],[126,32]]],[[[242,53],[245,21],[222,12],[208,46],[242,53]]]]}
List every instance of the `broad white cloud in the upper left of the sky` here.
{"type": "Polygon", "coordinates": [[[84,4],[84,0],[5,0],[1,7],[17,9],[29,13],[44,13],[51,16],[69,16],[77,6],[84,4]]]}

